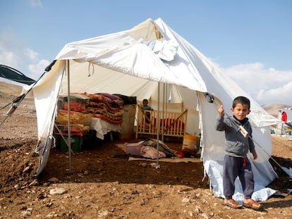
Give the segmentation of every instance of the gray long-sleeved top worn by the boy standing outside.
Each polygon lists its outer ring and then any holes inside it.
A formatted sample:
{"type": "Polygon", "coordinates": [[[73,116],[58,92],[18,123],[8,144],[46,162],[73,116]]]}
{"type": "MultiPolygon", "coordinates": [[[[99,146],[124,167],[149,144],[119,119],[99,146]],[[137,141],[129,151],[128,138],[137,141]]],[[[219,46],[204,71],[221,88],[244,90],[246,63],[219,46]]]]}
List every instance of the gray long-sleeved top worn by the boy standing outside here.
{"type": "Polygon", "coordinates": [[[216,130],[225,131],[225,145],[226,154],[230,156],[243,157],[245,158],[248,151],[251,153],[255,152],[255,144],[253,143],[253,130],[248,121],[245,118],[242,124],[234,117],[224,117],[224,115],[218,115],[216,121],[216,130]],[[244,137],[239,131],[238,127],[242,125],[248,132],[250,137],[244,137]]]}

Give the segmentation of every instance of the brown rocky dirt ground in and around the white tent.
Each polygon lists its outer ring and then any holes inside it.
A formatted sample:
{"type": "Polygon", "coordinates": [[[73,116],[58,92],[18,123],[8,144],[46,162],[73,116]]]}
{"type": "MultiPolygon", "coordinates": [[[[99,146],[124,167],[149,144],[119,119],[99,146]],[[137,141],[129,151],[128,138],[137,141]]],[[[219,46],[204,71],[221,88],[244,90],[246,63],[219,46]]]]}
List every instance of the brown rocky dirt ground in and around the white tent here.
{"type": "MultiPolygon", "coordinates": [[[[14,97],[0,87],[0,107],[14,97]]],[[[7,109],[0,110],[1,120],[7,109]]],[[[281,170],[270,185],[281,195],[262,201],[262,211],[236,210],[209,189],[202,162],[159,162],[160,168],[153,168],[156,161],[128,161],[123,143],[138,140],[113,137],[87,139],[83,151],[72,155],[71,168],[68,152],[52,149],[46,168],[35,178],[37,121],[33,100],[25,99],[0,126],[0,218],[292,217],[292,196],[287,194],[292,183],[281,170]]],[[[292,168],[289,139],[273,136],[272,155],[292,168]]],[[[178,139],[165,143],[174,150],[182,146],[178,139]]]]}

